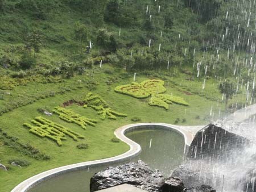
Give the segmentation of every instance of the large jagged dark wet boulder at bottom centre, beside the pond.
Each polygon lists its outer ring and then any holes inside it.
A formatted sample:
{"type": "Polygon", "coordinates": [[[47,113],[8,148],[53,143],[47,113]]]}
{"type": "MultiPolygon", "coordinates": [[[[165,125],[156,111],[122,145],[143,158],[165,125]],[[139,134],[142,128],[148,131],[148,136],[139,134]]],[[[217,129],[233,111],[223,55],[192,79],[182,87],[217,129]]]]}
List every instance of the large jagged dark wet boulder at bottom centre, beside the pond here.
{"type": "MultiPolygon", "coordinates": [[[[164,182],[159,170],[151,170],[143,161],[109,167],[90,179],[90,192],[107,189],[124,183],[146,191],[160,191],[164,182]]],[[[175,192],[175,191],[174,191],[175,192]]]]}

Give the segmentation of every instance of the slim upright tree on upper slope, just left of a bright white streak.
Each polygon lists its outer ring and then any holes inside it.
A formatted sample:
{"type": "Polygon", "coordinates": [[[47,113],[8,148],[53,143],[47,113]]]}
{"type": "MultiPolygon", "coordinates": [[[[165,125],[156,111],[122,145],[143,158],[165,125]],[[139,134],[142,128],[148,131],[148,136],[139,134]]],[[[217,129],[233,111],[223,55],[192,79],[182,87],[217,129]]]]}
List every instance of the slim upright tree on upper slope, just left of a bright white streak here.
{"type": "Polygon", "coordinates": [[[85,43],[88,39],[88,30],[84,24],[80,22],[75,23],[75,39],[80,43],[80,51],[82,55],[82,43],[85,43]]]}

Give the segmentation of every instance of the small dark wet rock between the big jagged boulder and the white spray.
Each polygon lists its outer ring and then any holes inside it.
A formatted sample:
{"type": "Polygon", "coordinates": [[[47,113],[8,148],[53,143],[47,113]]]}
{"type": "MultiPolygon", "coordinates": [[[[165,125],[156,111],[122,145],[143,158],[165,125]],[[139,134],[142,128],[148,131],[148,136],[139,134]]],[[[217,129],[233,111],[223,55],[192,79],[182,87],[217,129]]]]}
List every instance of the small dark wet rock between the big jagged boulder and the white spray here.
{"type": "Polygon", "coordinates": [[[175,192],[182,192],[184,190],[183,182],[177,177],[170,177],[164,181],[162,184],[161,191],[175,191],[175,192]]]}

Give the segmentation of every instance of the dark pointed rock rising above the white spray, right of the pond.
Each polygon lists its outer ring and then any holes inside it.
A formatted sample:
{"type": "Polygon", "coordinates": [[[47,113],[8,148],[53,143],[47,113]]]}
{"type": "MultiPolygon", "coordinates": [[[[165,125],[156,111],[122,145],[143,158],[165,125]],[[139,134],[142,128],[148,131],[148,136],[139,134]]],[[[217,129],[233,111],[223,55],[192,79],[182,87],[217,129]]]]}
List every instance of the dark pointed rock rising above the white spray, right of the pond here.
{"type": "Polygon", "coordinates": [[[233,151],[241,151],[249,143],[250,140],[245,137],[209,124],[196,133],[188,149],[187,157],[193,160],[201,160],[202,157],[225,160],[232,155],[233,151]]]}

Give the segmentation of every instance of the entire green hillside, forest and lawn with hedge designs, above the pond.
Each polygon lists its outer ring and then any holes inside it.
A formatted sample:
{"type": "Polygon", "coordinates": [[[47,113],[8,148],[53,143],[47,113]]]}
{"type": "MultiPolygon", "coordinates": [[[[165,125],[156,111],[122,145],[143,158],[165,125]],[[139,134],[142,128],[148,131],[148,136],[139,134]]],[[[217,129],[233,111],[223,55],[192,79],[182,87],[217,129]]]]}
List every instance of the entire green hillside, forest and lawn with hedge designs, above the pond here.
{"type": "Polygon", "coordinates": [[[0,192],[126,152],[125,124],[207,124],[255,103],[255,6],[0,0],[0,192]]]}

